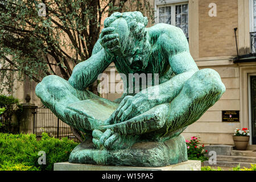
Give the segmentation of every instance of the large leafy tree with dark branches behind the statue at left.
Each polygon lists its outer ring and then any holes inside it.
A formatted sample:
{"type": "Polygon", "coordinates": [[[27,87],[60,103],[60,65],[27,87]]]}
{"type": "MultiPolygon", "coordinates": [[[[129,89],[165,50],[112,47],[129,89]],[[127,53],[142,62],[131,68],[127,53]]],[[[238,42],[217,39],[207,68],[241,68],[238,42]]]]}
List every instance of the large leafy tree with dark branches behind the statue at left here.
{"type": "Polygon", "coordinates": [[[13,89],[14,76],[68,80],[92,54],[104,18],[128,9],[154,19],[150,0],[0,0],[0,92],[13,89]]]}

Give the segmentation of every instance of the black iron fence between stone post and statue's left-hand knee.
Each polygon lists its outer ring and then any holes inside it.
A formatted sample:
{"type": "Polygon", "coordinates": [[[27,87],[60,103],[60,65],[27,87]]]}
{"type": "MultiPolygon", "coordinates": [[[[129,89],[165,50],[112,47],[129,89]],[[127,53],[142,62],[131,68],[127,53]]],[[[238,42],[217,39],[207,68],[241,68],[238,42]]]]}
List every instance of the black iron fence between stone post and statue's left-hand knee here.
{"type": "Polygon", "coordinates": [[[57,118],[48,108],[37,108],[34,114],[34,134],[37,139],[42,138],[44,132],[51,137],[68,137],[78,142],[69,125],[57,118]]]}

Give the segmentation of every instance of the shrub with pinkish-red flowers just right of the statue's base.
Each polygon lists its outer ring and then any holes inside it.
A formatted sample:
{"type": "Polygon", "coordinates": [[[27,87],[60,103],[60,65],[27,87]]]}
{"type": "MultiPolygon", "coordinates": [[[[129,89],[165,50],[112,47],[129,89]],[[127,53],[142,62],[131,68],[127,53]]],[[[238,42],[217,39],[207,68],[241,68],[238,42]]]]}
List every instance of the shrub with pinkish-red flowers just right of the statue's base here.
{"type": "Polygon", "coordinates": [[[200,140],[198,137],[191,137],[191,140],[186,140],[189,160],[201,160],[201,162],[208,160],[205,156],[207,150],[204,151],[204,144],[199,146],[199,142],[200,140]]]}

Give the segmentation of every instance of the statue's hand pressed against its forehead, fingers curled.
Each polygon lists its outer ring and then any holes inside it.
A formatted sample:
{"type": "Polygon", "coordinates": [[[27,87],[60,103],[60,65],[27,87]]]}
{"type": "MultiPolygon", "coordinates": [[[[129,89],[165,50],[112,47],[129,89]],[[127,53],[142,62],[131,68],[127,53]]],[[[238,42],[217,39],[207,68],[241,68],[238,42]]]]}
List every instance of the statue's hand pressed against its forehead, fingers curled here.
{"type": "Polygon", "coordinates": [[[103,28],[100,36],[101,46],[110,55],[122,55],[120,49],[119,35],[114,33],[114,27],[103,28]]]}

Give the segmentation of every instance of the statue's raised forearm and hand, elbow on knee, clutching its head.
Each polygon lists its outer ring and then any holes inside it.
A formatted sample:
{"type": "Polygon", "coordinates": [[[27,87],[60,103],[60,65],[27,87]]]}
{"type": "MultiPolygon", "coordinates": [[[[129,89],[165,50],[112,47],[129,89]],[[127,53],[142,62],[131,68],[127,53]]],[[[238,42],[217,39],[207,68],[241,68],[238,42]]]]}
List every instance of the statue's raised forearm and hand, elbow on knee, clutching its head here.
{"type": "Polygon", "coordinates": [[[113,34],[114,30],[113,27],[103,28],[93,47],[92,56],[73,69],[68,81],[75,89],[85,90],[112,63],[114,53],[120,53],[119,36],[113,34]]]}

